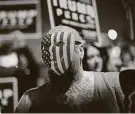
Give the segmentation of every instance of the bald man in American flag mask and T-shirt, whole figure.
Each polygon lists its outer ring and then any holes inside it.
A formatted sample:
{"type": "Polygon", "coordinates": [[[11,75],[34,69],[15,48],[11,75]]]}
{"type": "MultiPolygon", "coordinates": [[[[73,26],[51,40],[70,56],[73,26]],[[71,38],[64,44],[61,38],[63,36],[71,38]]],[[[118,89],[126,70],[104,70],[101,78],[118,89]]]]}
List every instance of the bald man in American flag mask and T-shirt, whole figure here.
{"type": "Polygon", "coordinates": [[[26,91],[16,113],[125,111],[119,73],[83,70],[83,42],[76,30],[54,27],[42,38],[41,50],[50,81],[26,91]]]}

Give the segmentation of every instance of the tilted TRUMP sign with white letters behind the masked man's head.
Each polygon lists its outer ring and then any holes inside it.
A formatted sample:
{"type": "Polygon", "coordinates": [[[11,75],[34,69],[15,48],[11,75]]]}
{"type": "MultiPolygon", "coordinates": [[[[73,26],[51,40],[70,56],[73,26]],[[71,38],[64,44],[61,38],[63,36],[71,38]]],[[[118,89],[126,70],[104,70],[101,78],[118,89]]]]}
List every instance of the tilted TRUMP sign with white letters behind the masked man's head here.
{"type": "Polygon", "coordinates": [[[51,27],[75,28],[84,39],[98,41],[100,29],[95,0],[48,0],[51,27]]]}

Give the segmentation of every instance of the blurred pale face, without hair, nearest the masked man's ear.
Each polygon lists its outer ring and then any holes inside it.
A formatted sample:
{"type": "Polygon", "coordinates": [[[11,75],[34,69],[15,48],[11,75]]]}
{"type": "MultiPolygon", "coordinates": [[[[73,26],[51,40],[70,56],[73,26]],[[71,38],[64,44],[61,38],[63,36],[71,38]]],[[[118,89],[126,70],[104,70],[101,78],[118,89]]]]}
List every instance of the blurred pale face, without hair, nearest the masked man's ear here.
{"type": "Polygon", "coordinates": [[[99,51],[95,47],[88,47],[87,50],[87,64],[91,71],[101,71],[103,66],[102,58],[99,51]]]}

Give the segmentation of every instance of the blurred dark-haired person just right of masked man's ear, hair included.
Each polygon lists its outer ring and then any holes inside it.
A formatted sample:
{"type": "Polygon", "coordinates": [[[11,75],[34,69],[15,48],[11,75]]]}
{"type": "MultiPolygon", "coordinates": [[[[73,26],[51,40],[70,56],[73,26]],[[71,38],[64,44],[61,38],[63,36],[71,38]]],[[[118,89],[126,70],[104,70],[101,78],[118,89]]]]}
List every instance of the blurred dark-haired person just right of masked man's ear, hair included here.
{"type": "Polygon", "coordinates": [[[103,70],[103,59],[99,49],[94,45],[86,46],[83,59],[83,68],[86,71],[100,72],[103,70]]]}

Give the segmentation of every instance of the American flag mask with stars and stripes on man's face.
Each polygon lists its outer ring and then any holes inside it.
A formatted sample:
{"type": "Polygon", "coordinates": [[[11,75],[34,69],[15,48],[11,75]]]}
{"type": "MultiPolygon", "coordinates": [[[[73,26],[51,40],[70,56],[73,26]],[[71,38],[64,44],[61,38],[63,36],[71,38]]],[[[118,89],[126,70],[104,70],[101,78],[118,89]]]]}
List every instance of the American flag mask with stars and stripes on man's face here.
{"type": "Polygon", "coordinates": [[[62,75],[73,58],[75,36],[70,32],[47,34],[41,41],[42,59],[49,70],[62,75]]]}

